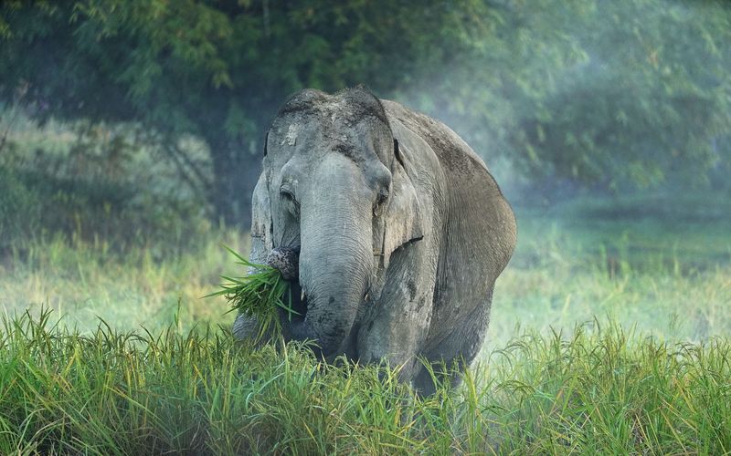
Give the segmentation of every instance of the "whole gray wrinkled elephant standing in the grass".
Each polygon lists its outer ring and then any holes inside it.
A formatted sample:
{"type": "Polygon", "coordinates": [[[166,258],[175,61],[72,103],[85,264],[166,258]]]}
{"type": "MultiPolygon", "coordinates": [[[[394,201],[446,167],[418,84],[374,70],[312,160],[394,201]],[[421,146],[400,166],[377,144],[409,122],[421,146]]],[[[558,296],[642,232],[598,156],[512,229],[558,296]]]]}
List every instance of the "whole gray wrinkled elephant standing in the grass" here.
{"type": "MultiPolygon", "coordinates": [[[[264,153],[250,259],[300,253],[303,317],[282,316],[285,337],[314,340],[327,359],[403,365],[425,394],[433,384],[419,357],[469,364],[516,235],[470,146],[365,89],[307,89],[281,108],[264,153]]],[[[238,316],[236,337],[256,331],[238,316]]]]}

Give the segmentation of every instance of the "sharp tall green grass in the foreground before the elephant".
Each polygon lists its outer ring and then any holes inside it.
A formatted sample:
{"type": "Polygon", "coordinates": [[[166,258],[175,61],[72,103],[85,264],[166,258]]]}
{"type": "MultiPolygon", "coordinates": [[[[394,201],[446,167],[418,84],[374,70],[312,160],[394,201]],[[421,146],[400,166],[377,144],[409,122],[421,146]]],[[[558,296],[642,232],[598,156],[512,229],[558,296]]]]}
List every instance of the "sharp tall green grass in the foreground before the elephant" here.
{"type": "Polygon", "coordinates": [[[395,369],[253,349],[224,330],[89,334],[5,317],[0,453],[731,451],[731,343],[612,323],[525,333],[420,398],[395,369]]]}

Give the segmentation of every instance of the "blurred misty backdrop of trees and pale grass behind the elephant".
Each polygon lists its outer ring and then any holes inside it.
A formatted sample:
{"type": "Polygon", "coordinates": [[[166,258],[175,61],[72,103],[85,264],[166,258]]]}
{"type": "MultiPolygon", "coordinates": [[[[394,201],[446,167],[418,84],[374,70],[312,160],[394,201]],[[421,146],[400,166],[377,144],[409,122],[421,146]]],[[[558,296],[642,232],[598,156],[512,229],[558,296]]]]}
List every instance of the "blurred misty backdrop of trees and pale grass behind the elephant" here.
{"type": "MultiPolygon", "coordinates": [[[[593,318],[731,331],[731,3],[87,0],[0,6],[0,306],[232,321],[262,140],[364,84],[471,144],[518,218],[488,345],[593,318]]],[[[598,320],[599,321],[599,320],[598,320]]]]}

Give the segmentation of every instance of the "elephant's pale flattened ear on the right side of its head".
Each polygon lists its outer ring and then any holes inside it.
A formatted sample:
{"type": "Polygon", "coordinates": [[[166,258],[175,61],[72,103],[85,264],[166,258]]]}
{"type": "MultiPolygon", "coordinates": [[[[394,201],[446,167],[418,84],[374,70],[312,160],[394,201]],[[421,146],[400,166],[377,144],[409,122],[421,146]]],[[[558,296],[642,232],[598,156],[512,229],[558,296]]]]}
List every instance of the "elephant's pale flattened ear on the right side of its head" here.
{"type": "Polygon", "coordinates": [[[391,171],[391,197],[388,199],[386,212],[376,233],[380,234],[380,252],[384,268],[388,267],[391,254],[398,247],[421,240],[424,237],[422,213],[414,184],[408,176],[410,165],[403,150],[399,150],[398,141],[394,140],[395,161],[391,171]]]}

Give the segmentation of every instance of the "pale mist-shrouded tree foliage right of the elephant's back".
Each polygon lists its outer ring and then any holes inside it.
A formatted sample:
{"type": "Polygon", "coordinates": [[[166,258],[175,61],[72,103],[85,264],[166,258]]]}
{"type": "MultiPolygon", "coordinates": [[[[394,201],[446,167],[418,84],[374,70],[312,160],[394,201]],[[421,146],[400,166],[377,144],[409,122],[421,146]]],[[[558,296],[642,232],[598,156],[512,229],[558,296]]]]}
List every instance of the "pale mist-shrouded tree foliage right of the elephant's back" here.
{"type": "MultiPolygon", "coordinates": [[[[731,163],[731,4],[505,1],[430,100],[534,182],[620,190],[731,163]]],[[[420,89],[419,89],[420,90],[420,89]]]]}

